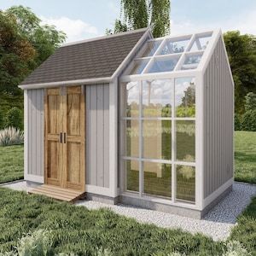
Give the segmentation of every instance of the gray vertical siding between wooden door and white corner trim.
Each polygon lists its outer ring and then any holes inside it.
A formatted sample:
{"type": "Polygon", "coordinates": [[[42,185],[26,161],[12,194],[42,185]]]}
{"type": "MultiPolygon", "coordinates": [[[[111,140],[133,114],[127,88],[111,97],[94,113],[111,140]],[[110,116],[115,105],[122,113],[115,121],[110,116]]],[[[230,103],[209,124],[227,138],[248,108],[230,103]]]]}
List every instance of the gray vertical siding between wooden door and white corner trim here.
{"type": "Polygon", "coordinates": [[[109,85],[86,85],[86,184],[109,187],[109,85]]]}

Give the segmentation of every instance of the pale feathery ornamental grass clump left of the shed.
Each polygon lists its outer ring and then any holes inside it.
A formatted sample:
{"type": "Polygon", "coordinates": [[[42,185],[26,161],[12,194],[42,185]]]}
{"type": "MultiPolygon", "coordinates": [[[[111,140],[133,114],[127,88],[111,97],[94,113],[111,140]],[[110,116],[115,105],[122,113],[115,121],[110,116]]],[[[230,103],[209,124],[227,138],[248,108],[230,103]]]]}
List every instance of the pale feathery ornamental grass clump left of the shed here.
{"type": "Polygon", "coordinates": [[[0,146],[20,145],[23,143],[23,131],[9,127],[0,131],[0,146]]]}

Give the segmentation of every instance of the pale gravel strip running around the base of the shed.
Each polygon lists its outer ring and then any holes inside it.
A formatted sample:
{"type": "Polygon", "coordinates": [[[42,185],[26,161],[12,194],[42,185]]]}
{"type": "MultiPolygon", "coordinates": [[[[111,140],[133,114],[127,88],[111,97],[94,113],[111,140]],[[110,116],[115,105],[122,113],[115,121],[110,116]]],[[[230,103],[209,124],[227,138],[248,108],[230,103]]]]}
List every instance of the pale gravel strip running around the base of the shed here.
{"type": "MultiPolygon", "coordinates": [[[[3,187],[17,190],[29,189],[26,187],[26,182],[9,183],[3,187]]],[[[78,201],[76,205],[89,209],[107,207],[118,214],[136,218],[141,223],[156,224],[164,228],[180,228],[193,234],[201,232],[206,236],[211,236],[214,241],[218,241],[230,236],[230,230],[236,224],[237,216],[247,207],[253,195],[256,195],[255,185],[234,183],[232,192],[201,220],[121,204],[112,206],[97,201],[78,201]]]]}

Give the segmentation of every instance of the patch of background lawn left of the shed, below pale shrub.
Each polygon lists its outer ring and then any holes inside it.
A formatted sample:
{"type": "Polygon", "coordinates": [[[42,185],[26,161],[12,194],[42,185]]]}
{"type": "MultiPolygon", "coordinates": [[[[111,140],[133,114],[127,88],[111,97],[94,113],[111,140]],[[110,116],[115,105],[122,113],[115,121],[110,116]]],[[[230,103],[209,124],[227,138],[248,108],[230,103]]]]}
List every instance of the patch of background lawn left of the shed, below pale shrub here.
{"type": "Polygon", "coordinates": [[[23,145],[0,147],[0,183],[23,178],[23,145]]]}

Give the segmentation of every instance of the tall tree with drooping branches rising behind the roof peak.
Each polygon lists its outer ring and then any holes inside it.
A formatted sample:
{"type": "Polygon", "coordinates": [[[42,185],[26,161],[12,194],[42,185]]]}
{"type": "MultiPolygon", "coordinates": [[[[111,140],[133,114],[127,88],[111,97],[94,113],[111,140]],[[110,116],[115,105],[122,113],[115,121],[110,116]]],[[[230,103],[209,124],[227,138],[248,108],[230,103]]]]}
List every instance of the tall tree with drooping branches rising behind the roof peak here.
{"type": "Polygon", "coordinates": [[[170,0],[121,0],[113,33],[151,26],[155,38],[166,36],[170,33],[170,6],[170,0]]]}

